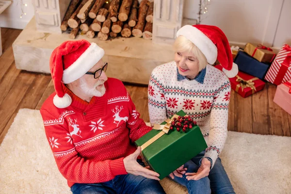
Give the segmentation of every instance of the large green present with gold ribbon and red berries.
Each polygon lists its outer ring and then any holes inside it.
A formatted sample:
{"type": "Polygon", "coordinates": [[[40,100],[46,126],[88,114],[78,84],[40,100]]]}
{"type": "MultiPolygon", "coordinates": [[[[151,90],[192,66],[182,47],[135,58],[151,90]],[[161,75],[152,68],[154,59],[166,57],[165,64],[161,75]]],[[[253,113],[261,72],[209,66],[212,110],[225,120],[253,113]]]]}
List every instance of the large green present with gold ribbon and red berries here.
{"type": "Polygon", "coordinates": [[[160,179],[165,178],[207,148],[200,128],[194,125],[195,121],[193,126],[188,125],[189,129],[186,131],[182,129],[178,131],[176,127],[171,129],[174,119],[179,125],[178,116],[187,115],[179,111],[161,125],[155,125],[151,131],[135,141],[136,146],[141,146],[148,165],[160,174],[160,179]]]}

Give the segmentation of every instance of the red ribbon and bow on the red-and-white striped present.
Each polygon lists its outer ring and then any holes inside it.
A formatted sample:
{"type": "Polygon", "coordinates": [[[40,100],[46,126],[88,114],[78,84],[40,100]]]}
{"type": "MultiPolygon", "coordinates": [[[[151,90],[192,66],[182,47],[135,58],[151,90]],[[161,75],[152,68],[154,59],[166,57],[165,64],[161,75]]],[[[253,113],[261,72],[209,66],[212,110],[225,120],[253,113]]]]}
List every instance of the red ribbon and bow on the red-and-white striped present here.
{"type": "Polygon", "coordinates": [[[284,61],[281,63],[280,69],[276,75],[276,79],[274,81],[274,84],[279,85],[282,83],[283,78],[286,74],[286,72],[288,71],[288,68],[291,64],[291,47],[289,45],[285,45],[282,49],[286,50],[286,51],[290,51],[290,53],[287,54],[286,58],[284,59],[284,61]]]}

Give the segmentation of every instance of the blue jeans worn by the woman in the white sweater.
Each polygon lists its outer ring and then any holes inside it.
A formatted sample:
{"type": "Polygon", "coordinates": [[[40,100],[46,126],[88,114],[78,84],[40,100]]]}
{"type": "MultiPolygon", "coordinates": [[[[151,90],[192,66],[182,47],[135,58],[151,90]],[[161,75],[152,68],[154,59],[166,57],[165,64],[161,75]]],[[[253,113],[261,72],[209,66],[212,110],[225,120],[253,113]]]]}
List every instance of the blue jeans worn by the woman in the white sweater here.
{"type": "MultiPolygon", "coordinates": [[[[184,168],[188,168],[187,173],[197,172],[204,154],[205,151],[184,164],[184,168]]],[[[174,181],[187,187],[189,194],[235,194],[220,158],[217,158],[208,177],[188,181],[183,175],[182,178],[175,176],[174,181]]]]}

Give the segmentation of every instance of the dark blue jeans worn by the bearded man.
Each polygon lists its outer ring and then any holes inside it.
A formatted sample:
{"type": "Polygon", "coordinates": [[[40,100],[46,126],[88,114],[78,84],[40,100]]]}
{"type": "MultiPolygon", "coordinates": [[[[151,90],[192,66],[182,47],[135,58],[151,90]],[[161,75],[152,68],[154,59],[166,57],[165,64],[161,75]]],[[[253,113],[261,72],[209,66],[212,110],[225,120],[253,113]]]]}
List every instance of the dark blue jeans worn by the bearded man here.
{"type": "MultiPolygon", "coordinates": [[[[137,162],[145,166],[141,160],[137,162]]],[[[158,180],[131,174],[118,175],[102,183],[75,183],[71,191],[73,194],[165,194],[158,180]]]]}

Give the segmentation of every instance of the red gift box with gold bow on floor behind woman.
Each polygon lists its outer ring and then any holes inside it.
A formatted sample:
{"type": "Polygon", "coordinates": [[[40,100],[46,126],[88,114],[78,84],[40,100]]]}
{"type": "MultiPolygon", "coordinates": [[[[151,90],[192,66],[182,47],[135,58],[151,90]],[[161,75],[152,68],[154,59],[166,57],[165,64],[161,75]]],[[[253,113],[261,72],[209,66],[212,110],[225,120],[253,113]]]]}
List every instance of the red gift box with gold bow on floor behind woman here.
{"type": "MultiPolygon", "coordinates": [[[[215,65],[214,67],[222,70],[221,65],[215,65]]],[[[264,89],[265,82],[259,78],[248,75],[239,71],[238,75],[234,78],[229,78],[231,88],[235,90],[242,97],[248,97],[260,90],[264,89]]]]}

